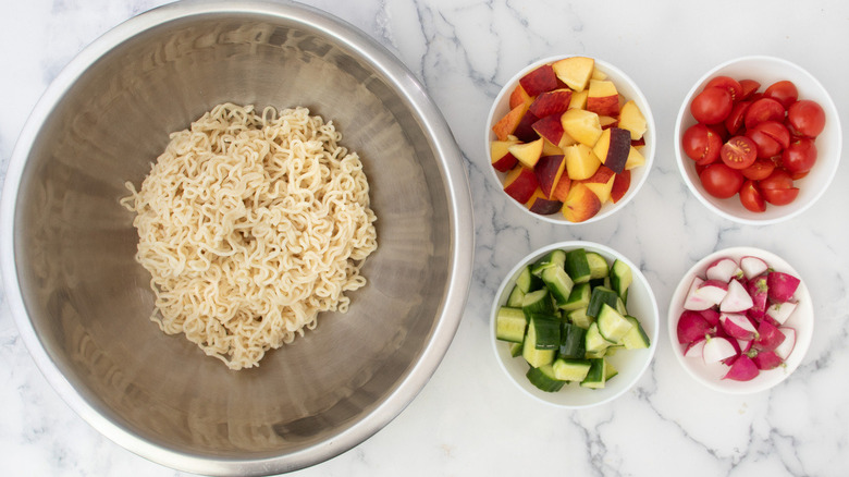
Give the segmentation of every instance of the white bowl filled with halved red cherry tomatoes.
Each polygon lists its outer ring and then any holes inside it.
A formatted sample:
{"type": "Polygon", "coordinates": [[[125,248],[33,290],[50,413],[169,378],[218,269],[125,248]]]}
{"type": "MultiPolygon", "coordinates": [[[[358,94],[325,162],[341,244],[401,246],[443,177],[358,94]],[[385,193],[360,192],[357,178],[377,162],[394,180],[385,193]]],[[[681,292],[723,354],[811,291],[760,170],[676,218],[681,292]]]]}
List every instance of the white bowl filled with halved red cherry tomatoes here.
{"type": "Polygon", "coordinates": [[[675,137],[693,195],[719,216],[758,225],[811,207],[832,183],[842,147],[823,85],[773,57],[738,58],[704,74],[681,105],[675,137]]]}

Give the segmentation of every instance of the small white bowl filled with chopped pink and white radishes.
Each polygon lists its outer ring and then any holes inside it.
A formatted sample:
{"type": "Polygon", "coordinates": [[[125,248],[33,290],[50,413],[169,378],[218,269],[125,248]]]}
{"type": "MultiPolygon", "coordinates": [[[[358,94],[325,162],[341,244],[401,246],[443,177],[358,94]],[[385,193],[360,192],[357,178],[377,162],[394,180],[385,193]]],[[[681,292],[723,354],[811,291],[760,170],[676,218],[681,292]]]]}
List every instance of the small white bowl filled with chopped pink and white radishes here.
{"type": "Polygon", "coordinates": [[[669,303],[669,340],[684,369],[721,392],[748,394],[784,381],[813,335],[811,294],[775,254],[733,247],[699,260],[669,303]]]}

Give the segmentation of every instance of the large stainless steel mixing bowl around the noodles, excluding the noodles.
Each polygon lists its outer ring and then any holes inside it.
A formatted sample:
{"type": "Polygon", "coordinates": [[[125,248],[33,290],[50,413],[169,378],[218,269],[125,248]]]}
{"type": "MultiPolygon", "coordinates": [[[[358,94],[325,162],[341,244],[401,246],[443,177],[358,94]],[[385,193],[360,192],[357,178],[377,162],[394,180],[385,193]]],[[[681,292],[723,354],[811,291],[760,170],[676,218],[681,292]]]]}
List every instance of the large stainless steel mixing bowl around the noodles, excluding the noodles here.
{"type": "Polygon", "coordinates": [[[431,377],[468,293],[470,197],[440,112],[381,46],[293,3],[179,3],[109,32],[35,108],[3,193],[5,291],[39,368],[103,435],[187,472],[287,472],[367,439],[431,377]],[[170,132],[224,101],[332,119],[365,163],[380,244],[346,315],[242,371],[149,321],[119,205],[170,132]]]}

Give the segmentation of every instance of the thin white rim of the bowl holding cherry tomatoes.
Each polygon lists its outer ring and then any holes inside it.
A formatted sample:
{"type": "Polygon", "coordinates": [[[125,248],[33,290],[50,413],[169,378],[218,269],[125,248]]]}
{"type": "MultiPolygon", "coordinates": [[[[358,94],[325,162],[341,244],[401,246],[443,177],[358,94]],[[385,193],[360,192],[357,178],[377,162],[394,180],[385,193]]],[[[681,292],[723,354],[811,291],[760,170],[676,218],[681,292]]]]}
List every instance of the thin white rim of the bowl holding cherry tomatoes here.
{"type": "MultiPolygon", "coordinates": [[[[775,81],[778,81],[779,78],[776,78],[775,81]]],[[[766,85],[762,85],[766,86],[766,85]]],[[[802,98],[804,99],[804,98],[802,98]]],[[[687,184],[687,187],[690,189],[693,196],[696,196],[697,199],[699,199],[700,203],[702,203],[707,209],[712,210],[713,212],[717,213],[721,217],[724,217],[728,220],[731,220],[734,222],[747,224],[747,225],[771,225],[779,222],[784,222],[786,220],[790,220],[801,213],[803,213],[805,210],[808,210],[810,207],[812,207],[814,204],[816,204],[820,198],[825,194],[825,191],[828,188],[828,186],[832,184],[832,181],[834,180],[835,174],[837,173],[837,168],[840,166],[840,154],[842,151],[842,134],[841,134],[841,125],[840,125],[840,117],[839,111],[837,109],[837,106],[834,102],[834,99],[832,99],[832,96],[828,94],[828,90],[820,83],[820,81],[811,74],[808,70],[803,69],[802,66],[786,60],[784,58],[773,57],[773,56],[766,56],[766,54],[751,54],[751,56],[745,56],[745,57],[738,57],[734,58],[727,61],[724,61],[723,63],[719,63],[718,65],[712,68],[710,71],[704,73],[699,80],[696,81],[693,86],[690,88],[690,90],[687,93],[687,95],[684,97],[684,100],[681,101],[680,109],[678,110],[678,115],[675,120],[675,135],[674,135],[674,146],[675,146],[675,156],[676,156],[676,164],[678,167],[678,171],[681,174],[681,178],[684,179],[684,182],[687,184]],[[685,115],[689,112],[689,105],[690,101],[692,101],[692,98],[696,96],[697,91],[701,90],[703,85],[707,83],[709,80],[711,80],[713,76],[716,76],[719,71],[725,70],[728,66],[733,66],[739,63],[745,62],[751,62],[751,61],[766,61],[766,62],[774,62],[777,64],[782,64],[790,70],[796,70],[799,74],[802,76],[805,76],[810,80],[811,85],[815,88],[820,89],[823,94],[823,98],[825,98],[825,101],[819,101],[823,107],[823,109],[826,111],[826,115],[829,119],[829,122],[834,123],[834,131],[835,131],[835,150],[834,156],[836,156],[838,159],[832,162],[830,170],[826,174],[826,182],[822,185],[822,187],[819,187],[815,194],[808,200],[807,204],[802,205],[798,209],[785,213],[778,217],[770,218],[770,219],[758,219],[758,218],[743,218],[738,217],[733,213],[729,213],[718,207],[716,207],[711,200],[709,200],[706,197],[704,197],[703,194],[701,194],[696,184],[690,181],[690,178],[686,171],[685,163],[685,155],[684,151],[681,151],[681,142],[680,137],[682,134],[681,125],[684,124],[685,115]]],[[[689,161],[690,159],[687,158],[689,161]]],[[[689,166],[689,163],[688,163],[689,166]]],[[[736,196],[735,196],[736,197],[736,196]]],[[[731,200],[735,199],[735,197],[731,197],[731,200]]],[[[755,213],[755,212],[752,212],[755,213]]]]}

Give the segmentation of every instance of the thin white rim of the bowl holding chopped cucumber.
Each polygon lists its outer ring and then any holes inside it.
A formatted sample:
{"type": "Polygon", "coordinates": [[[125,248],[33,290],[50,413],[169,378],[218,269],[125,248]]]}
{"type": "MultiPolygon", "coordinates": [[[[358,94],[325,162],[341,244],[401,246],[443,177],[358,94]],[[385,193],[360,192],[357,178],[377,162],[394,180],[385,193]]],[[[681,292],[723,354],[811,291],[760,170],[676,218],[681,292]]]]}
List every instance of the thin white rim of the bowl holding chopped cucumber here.
{"type": "MultiPolygon", "coordinates": [[[[657,337],[660,334],[660,327],[661,327],[661,319],[660,319],[660,311],[657,308],[657,299],[654,296],[654,292],[651,288],[651,284],[649,283],[649,280],[645,278],[645,276],[642,273],[642,271],[637,267],[628,257],[623,255],[622,253],[606,246],[602,245],[595,242],[588,242],[588,241],[564,241],[564,242],[556,242],[553,244],[545,245],[541,248],[537,248],[536,250],[529,253],[521,259],[519,259],[516,265],[510,269],[510,271],[507,272],[507,274],[502,280],[501,284],[499,285],[499,289],[495,293],[495,296],[492,299],[492,306],[490,308],[490,314],[488,316],[489,319],[489,327],[488,327],[488,335],[487,339],[490,341],[490,347],[492,350],[492,354],[495,357],[495,360],[499,363],[499,367],[501,368],[504,376],[507,378],[508,381],[510,381],[517,389],[519,389],[525,395],[528,395],[532,397],[534,401],[544,403],[550,406],[554,406],[557,408],[566,408],[566,409],[582,409],[582,408],[589,408],[593,406],[599,406],[602,404],[606,404],[608,402],[612,402],[619,397],[620,395],[625,394],[627,391],[633,388],[633,386],[637,383],[637,381],[642,378],[643,374],[645,374],[645,370],[649,369],[649,366],[652,363],[652,359],[654,359],[654,354],[657,350],[657,337]],[[611,395],[601,399],[599,401],[595,401],[590,404],[581,404],[581,405],[569,405],[569,404],[558,404],[551,400],[544,399],[546,395],[550,395],[550,393],[543,394],[542,391],[539,393],[532,392],[532,390],[528,390],[520,386],[510,375],[509,370],[507,369],[504,360],[502,360],[500,353],[499,353],[499,346],[504,345],[505,343],[503,341],[499,341],[495,339],[495,316],[497,315],[499,308],[503,304],[504,299],[507,294],[505,293],[506,288],[513,283],[515,280],[515,277],[518,274],[518,272],[527,266],[531,260],[542,256],[543,254],[556,249],[574,249],[574,248],[587,248],[592,249],[596,252],[601,252],[603,255],[606,255],[607,258],[610,257],[617,258],[623,260],[628,267],[631,268],[631,272],[633,273],[633,282],[641,282],[642,285],[645,286],[645,294],[649,296],[649,303],[645,304],[651,309],[651,316],[654,319],[653,323],[653,330],[651,331],[651,335],[649,339],[651,340],[651,344],[648,350],[644,350],[645,353],[643,354],[644,362],[640,365],[640,367],[637,369],[637,371],[633,374],[633,376],[630,378],[630,381],[625,384],[619,391],[612,393],[611,395]]],[[[643,318],[640,317],[640,320],[643,321],[643,318]]],[[[517,358],[520,359],[520,358],[517,358]]],[[[559,391],[559,392],[568,392],[568,391],[559,391]]],[[[556,394],[556,393],[555,393],[556,394]]]]}

